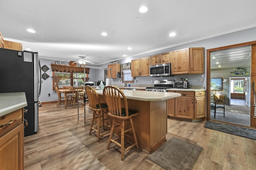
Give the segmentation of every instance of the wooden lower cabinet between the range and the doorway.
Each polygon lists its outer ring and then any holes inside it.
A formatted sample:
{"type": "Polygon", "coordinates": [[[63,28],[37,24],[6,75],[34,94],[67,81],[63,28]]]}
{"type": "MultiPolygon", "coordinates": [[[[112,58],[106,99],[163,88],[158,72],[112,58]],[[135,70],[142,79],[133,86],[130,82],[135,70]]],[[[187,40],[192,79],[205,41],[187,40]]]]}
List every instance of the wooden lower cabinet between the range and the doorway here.
{"type": "Polygon", "coordinates": [[[168,116],[191,120],[205,117],[205,91],[175,92],[181,96],[168,100],[168,116]]]}

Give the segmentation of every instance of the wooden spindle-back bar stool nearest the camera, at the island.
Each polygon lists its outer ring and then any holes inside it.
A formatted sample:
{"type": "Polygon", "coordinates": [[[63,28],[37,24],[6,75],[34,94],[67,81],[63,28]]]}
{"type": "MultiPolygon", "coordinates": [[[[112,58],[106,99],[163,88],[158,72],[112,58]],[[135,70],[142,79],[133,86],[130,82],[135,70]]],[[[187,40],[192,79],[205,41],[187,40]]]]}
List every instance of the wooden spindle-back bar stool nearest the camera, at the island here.
{"type": "Polygon", "coordinates": [[[124,160],[124,152],[126,152],[127,150],[131,149],[134,146],[136,146],[137,149],[139,148],[133,122],[132,122],[132,117],[137,115],[138,111],[128,109],[126,96],[116,86],[106,86],[103,90],[103,96],[108,105],[108,116],[114,118],[112,122],[112,128],[110,131],[110,136],[108,139],[107,149],[109,149],[111,143],[118,145],[119,147],[121,147],[121,160],[124,160]],[[123,102],[124,102],[123,108],[121,106],[121,103],[122,103],[121,99],[123,99],[123,102]],[[121,123],[118,122],[117,120],[121,121],[121,123]],[[131,127],[129,129],[125,129],[125,126],[124,126],[125,121],[130,122],[131,127]],[[119,126],[121,126],[121,135],[118,136],[118,138],[116,139],[112,139],[114,134],[114,128],[119,126]],[[126,134],[128,131],[132,131],[133,136],[126,134]],[[134,139],[134,143],[127,148],[124,148],[124,135],[129,136],[131,139],[134,139]],[[120,141],[120,143],[118,141],[120,141]]]}

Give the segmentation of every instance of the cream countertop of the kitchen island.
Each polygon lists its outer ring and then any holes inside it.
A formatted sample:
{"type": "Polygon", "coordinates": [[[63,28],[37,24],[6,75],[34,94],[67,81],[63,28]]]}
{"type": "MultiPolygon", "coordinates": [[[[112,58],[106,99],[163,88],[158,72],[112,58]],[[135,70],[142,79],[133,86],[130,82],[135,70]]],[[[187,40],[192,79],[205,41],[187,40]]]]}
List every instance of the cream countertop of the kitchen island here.
{"type": "MultiPolygon", "coordinates": [[[[96,90],[97,94],[103,95],[103,90],[96,90]]],[[[136,90],[122,90],[127,99],[142,100],[142,101],[164,101],[171,98],[181,96],[179,93],[174,92],[146,92],[136,90]]]]}

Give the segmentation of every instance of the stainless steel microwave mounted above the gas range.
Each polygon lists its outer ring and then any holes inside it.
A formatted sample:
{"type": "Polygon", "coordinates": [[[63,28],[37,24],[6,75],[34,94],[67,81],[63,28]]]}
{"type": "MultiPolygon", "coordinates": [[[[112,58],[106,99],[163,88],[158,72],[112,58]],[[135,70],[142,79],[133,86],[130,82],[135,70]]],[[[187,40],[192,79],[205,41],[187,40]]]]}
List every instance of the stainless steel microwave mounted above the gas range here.
{"type": "Polygon", "coordinates": [[[172,76],[171,63],[150,65],[149,68],[151,77],[172,76]]]}

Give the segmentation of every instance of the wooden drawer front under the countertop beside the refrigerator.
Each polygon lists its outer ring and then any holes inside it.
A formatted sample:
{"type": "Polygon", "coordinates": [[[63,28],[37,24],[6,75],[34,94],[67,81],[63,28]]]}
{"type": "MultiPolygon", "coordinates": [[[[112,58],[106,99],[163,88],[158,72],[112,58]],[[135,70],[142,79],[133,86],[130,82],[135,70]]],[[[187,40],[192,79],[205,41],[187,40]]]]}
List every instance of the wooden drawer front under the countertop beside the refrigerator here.
{"type": "Polygon", "coordinates": [[[22,115],[23,115],[23,108],[1,116],[0,125],[4,125],[6,123],[9,123],[10,121],[12,121],[12,123],[10,123],[10,125],[0,127],[0,136],[4,135],[8,131],[14,129],[14,127],[21,124],[23,122],[22,115]]]}

